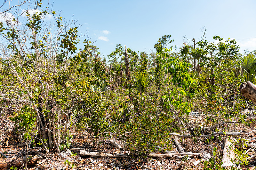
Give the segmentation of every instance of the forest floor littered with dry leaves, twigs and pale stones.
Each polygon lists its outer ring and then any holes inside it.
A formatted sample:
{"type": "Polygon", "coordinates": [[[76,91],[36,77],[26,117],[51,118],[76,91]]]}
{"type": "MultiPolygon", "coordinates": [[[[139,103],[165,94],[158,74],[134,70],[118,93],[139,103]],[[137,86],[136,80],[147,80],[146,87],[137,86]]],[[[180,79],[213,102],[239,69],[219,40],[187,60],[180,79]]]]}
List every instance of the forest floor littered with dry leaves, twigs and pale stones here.
{"type": "MultiPolygon", "coordinates": [[[[196,121],[204,121],[205,117],[199,113],[191,114],[191,120],[196,121]]],[[[255,116],[248,117],[248,119],[255,120],[255,116]]],[[[225,127],[229,131],[234,130],[234,125],[228,124],[225,127]]],[[[13,132],[13,123],[8,119],[7,116],[1,117],[0,119],[0,152],[6,153],[5,155],[8,157],[18,156],[21,154],[22,146],[20,144],[20,139],[13,132]]],[[[251,124],[250,127],[245,126],[240,123],[237,124],[236,131],[242,131],[243,134],[240,135],[240,138],[251,139],[248,143],[247,147],[243,147],[243,150],[248,150],[251,148],[247,154],[249,156],[256,155],[256,124],[251,124]]],[[[72,148],[84,148],[84,149],[94,149],[92,140],[87,131],[74,131],[71,134],[73,136],[73,142],[70,147],[72,148]]],[[[175,138],[174,136],[172,136],[175,138]]],[[[217,147],[217,151],[220,155],[223,152],[223,141],[228,138],[228,136],[221,136],[221,141],[218,141],[215,138],[215,144],[213,146],[217,147]]],[[[177,137],[179,142],[181,142],[181,138],[177,137]]],[[[214,140],[214,139],[213,139],[214,140]]],[[[116,140],[122,147],[124,144],[122,141],[116,140]]],[[[23,144],[24,147],[25,144],[23,144]]],[[[174,144],[172,145],[172,151],[178,152],[177,147],[174,144]]],[[[184,138],[183,148],[185,152],[196,152],[202,153],[203,158],[208,160],[211,158],[211,150],[209,147],[209,143],[207,138],[200,138],[197,143],[194,142],[193,138],[184,138]]],[[[177,170],[177,169],[203,169],[204,163],[198,164],[196,167],[193,167],[193,163],[200,158],[191,158],[185,160],[184,158],[152,158],[145,157],[140,159],[133,158],[101,158],[101,157],[88,157],[81,156],[79,150],[72,150],[72,148],[62,151],[60,153],[51,152],[48,155],[42,156],[42,159],[38,160],[36,164],[28,166],[29,170],[69,170],[69,169],[83,169],[83,170],[98,170],[98,169],[134,169],[134,170],[148,170],[148,169],[156,169],[156,170],[177,170]],[[77,155],[72,154],[77,153],[77,155]],[[74,161],[74,166],[72,164],[67,163],[74,161]]],[[[24,150],[24,148],[23,148],[24,150]]],[[[106,140],[106,142],[102,142],[99,146],[98,150],[107,153],[113,154],[128,154],[128,152],[120,151],[115,146],[113,146],[110,142],[106,140]]],[[[42,151],[41,148],[35,147],[30,148],[30,153],[40,153],[42,151]]],[[[164,153],[164,151],[159,151],[156,153],[164,153]]],[[[24,154],[24,153],[23,153],[24,154]]],[[[24,155],[23,155],[24,156],[24,155]]],[[[1,161],[0,161],[1,162],[1,161]]],[[[249,160],[249,165],[246,167],[240,167],[242,169],[254,169],[256,166],[256,159],[249,160]]],[[[17,167],[17,169],[22,169],[21,167],[17,167]]]]}

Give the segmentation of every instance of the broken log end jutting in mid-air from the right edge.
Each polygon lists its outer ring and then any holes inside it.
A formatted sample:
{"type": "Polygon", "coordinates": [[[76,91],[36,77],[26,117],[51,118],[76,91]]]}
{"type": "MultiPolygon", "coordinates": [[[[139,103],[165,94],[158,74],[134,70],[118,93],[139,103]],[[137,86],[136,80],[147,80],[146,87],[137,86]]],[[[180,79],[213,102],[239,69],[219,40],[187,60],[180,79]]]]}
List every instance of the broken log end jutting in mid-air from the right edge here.
{"type": "Polygon", "coordinates": [[[244,97],[256,104],[256,86],[251,81],[242,83],[239,90],[244,97]]]}

